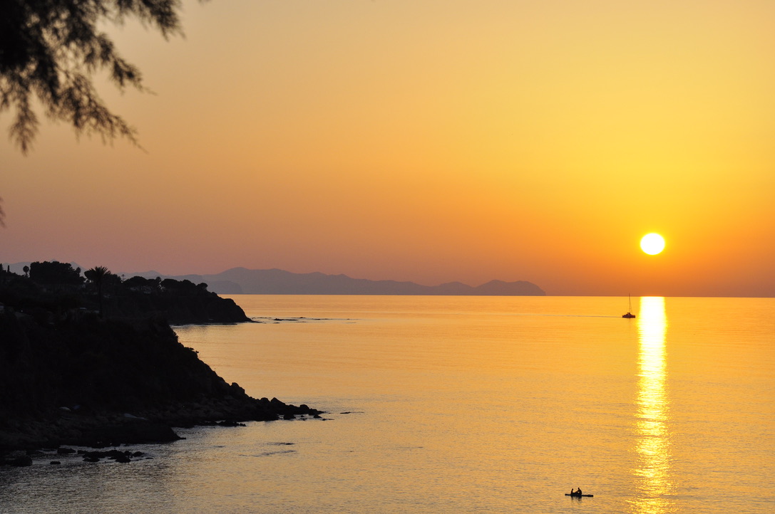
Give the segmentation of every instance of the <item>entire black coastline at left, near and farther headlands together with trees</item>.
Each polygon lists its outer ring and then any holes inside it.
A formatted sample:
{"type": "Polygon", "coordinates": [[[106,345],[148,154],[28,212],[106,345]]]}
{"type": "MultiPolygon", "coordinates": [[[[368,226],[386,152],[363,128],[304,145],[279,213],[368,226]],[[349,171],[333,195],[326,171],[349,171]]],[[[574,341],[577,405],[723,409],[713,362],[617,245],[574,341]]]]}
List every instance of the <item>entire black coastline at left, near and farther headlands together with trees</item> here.
{"type": "Polygon", "coordinates": [[[0,464],[12,450],[165,442],[179,438],[173,427],[319,416],[248,396],[177,341],[171,324],[250,321],[205,284],[29,268],[0,271],[0,464]]]}

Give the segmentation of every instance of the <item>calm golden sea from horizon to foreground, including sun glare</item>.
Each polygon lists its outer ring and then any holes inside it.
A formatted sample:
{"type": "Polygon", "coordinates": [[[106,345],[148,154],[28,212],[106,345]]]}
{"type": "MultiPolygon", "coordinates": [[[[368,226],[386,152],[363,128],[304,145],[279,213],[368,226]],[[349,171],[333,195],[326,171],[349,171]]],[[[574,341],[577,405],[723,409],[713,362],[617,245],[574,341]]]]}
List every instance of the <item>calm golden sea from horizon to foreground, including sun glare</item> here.
{"type": "Polygon", "coordinates": [[[773,298],[229,297],[181,343],[322,419],[0,468],[0,512],[775,512],[773,298]]]}

